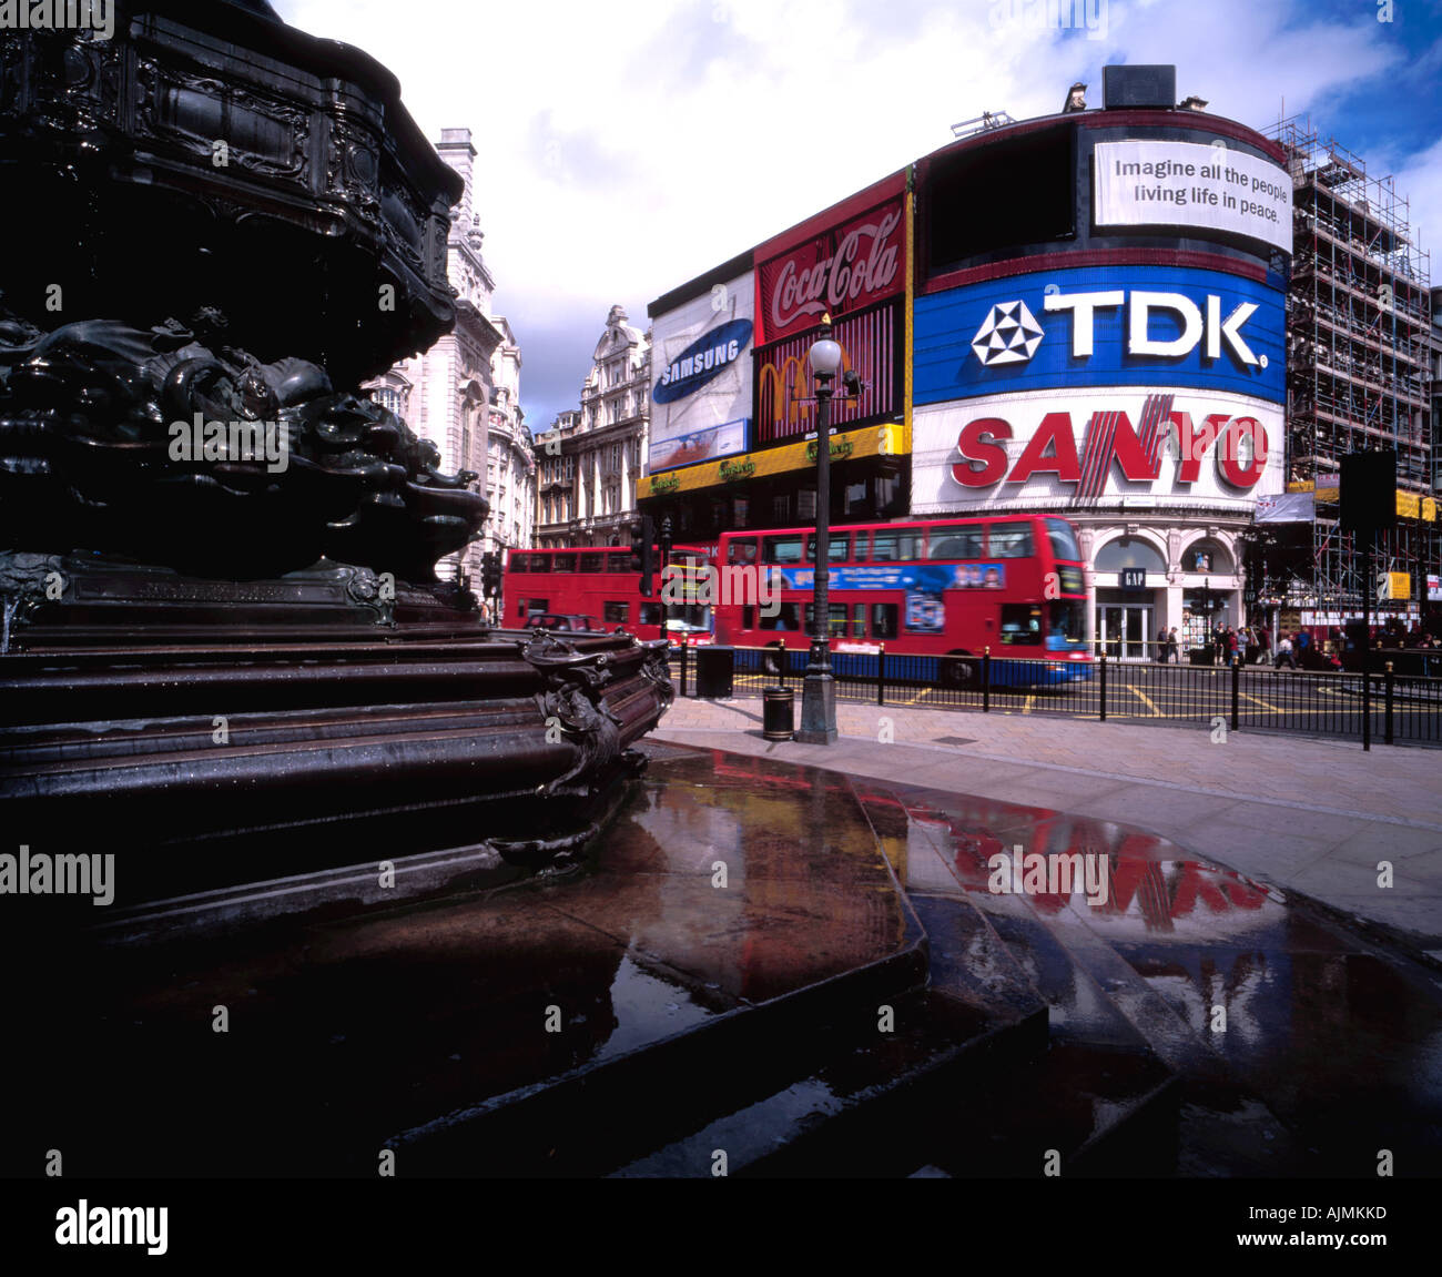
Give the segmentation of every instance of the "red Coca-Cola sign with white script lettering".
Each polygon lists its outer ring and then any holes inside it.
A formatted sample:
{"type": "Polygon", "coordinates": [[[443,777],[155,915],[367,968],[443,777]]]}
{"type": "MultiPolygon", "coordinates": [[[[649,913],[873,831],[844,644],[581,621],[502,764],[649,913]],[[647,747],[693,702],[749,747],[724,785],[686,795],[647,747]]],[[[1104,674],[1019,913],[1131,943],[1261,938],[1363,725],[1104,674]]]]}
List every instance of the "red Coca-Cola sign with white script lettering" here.
{"type": "Polygon", "coordinates": [[[760,270],[766,339],[815,328],[901,291],[906,286],[903,201],[887,201],[849,222],[773,257],[760,270]]]}

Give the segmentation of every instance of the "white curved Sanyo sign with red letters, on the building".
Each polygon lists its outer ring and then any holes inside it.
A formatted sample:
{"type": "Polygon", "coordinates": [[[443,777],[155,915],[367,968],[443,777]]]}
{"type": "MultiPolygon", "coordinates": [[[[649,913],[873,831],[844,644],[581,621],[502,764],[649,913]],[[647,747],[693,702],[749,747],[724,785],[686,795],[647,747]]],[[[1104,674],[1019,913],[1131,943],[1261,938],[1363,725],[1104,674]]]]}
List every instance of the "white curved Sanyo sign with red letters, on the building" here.
{"type": "Polygon", "coordinates": [[[1282,488],[1260,400],[1118,388],[996,395],[913,416],[916,512],[957,504],[1250,504],[1282,488]]]}

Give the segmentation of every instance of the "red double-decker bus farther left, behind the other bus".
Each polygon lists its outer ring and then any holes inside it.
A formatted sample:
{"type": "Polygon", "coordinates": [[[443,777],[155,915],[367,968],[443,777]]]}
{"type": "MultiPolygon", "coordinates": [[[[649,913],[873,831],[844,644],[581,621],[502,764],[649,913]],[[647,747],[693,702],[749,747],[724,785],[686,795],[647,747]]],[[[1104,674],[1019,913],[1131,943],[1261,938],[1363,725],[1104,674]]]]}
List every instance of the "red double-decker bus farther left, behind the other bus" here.
{"type": "Polygon", "coordinates": [[[624,629],[639,639],[711,642],[711,607],[696,603],[695,582],[711,560],[701,545],[672,545],[671,563],[684,569],[678,603],[662,603],[660,551],[652,597],[640,592],[630,550],[512,550],[502,586],[500,625],[518,629],[536,616],[584,616],[594,628],[624,629]]]}

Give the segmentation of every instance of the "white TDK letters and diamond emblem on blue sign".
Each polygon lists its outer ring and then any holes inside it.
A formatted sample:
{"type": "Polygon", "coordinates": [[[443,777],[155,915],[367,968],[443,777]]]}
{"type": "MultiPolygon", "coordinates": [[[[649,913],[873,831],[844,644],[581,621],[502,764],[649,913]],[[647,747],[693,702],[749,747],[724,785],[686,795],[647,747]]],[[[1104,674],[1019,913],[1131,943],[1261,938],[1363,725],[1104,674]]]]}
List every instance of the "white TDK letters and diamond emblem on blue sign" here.
{"type": "MultiPolygon", "coordinates": [[[[1223,316],[1221,297],[1216,293],[1207,293],[1203,306],[1182,293],[1123,289],[1048,291],[1043,297],[1044,312],[1071,316],[1073,359],[1092,358],[1097,312],[1123,307],[1128,355],[1181,359],[1201,346],[1206,359],[1220,359],[1226,349],[1247,368],[1268,367],[1266,355],[1253,354],[1242,332],[1257,310],[1256,302],[1239,302],[1223,316]]],[[[1025,364],[1037,354],[1043,336],[1044,330],[1024,302],[1004,302],[988,310],[972,338],[972,351],[983,368],[1025,364]]]]}

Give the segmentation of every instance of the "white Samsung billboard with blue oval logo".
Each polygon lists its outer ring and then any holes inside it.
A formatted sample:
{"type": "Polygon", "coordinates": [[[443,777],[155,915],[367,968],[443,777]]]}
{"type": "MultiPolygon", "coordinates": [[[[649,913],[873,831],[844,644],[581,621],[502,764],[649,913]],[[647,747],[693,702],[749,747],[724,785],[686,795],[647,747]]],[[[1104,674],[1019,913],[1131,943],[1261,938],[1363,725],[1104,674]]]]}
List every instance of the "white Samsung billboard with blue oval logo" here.
{"type": "Polygon", "coordinates": [[[746,452],[754,299],[746,271],[652,319],[647,473],[746,452]]]}

